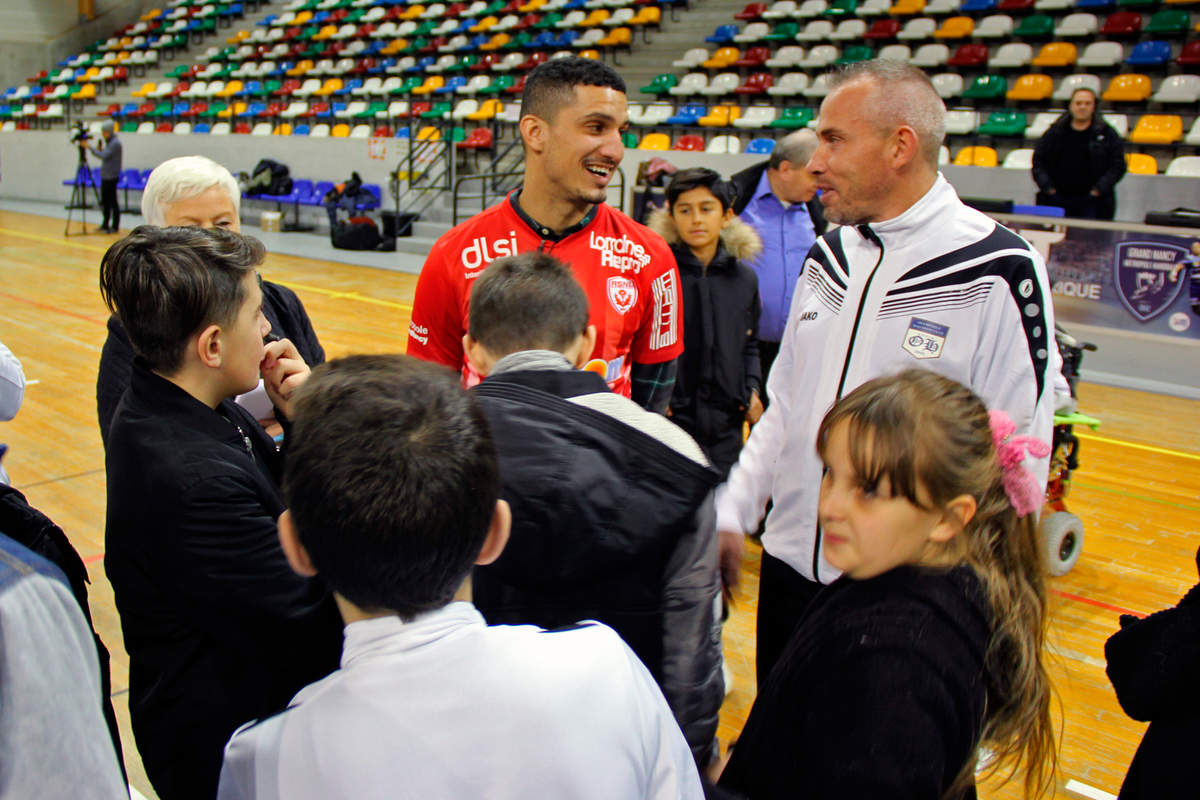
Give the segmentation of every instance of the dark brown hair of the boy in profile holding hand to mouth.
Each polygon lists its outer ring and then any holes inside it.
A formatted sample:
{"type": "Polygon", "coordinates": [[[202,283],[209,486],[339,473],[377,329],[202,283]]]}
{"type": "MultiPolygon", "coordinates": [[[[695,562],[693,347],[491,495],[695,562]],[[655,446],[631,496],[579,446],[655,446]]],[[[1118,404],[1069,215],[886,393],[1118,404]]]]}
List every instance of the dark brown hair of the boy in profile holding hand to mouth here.
{"type": "Polygon", "coordinates": [[[151,369],[175,373],[187,341],[233,321],[262,242],[228,230],[139,225],[100,261],[100,293],[151,369]]]}

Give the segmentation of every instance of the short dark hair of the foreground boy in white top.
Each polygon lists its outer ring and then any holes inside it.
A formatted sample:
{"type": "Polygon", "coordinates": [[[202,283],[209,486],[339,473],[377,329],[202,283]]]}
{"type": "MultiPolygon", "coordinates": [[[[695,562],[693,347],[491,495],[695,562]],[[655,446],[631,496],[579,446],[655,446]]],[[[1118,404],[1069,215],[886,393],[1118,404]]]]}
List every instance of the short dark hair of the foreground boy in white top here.
{"type": "Polygon", "coordinates": [[[403,619],[454,597],[500,493],[482,411],[444,367],[329,361],[296,390],[283,493],[318,573],[403,619]]]}

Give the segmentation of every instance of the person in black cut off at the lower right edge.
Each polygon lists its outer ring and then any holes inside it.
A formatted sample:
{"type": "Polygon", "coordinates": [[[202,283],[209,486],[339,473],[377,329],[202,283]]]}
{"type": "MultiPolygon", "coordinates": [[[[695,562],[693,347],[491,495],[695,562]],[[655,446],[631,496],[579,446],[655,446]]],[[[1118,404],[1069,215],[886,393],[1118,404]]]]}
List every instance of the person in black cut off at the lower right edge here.
{"type": "Polygon", "coordinates": [[[1150,722],[1118,796],[1194,798],[1192,758],[1200,741],[1200,583],[1175,608],[1145,619],[1122,615],[1121,630],[1109,637],[1104,655],[1121,708],[1134,720],[1150,722]]]}

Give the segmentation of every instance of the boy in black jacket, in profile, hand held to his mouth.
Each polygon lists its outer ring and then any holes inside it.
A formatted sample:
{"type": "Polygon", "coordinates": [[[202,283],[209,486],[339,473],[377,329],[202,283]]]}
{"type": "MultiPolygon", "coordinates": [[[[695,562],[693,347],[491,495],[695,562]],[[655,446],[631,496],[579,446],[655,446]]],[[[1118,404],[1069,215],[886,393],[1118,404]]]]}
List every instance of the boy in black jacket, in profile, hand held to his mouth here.
{"type": "Polygon", "coordinates": [[[130,652],[130,716],[158,796],[212,798],[221,748],[337,666],[324,584],[275,534],[281,453],[232,397],[262,374],[284,414],[308,367],[270,324],[254,239],[143,225],[101,261],[138,357],[109,429],[104,570],[130,652]]]}

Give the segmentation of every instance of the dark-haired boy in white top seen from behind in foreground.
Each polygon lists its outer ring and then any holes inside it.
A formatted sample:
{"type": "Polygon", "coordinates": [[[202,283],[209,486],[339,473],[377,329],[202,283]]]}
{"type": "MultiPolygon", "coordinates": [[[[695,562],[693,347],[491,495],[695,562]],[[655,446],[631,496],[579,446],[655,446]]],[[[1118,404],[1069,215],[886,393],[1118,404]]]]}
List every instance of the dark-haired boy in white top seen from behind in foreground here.
{"type": "Polygon", "coordinates": [[[698,798],[654,681],[607,627],[487,627],[451,602],[510,512],[454,373],[338,359],[296,396],[280,540],[346,620],[342,668],[240,729],[220,799],[698,798]]]}

